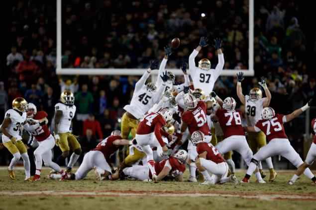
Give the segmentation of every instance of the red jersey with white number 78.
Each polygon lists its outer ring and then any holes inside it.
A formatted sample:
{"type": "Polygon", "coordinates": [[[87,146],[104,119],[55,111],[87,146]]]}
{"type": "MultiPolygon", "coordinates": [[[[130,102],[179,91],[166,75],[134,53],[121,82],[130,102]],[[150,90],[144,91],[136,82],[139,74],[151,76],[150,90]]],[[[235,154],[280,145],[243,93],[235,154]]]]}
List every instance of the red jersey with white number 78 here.
{"type": "Polygon", "coordinates": [[[224,133],[224,139],[230,136],[245,136],[245,132],[241,125],[241,112],[230,111],[226,109],[218,109],[215,112],[221,130],[224,133]]]}

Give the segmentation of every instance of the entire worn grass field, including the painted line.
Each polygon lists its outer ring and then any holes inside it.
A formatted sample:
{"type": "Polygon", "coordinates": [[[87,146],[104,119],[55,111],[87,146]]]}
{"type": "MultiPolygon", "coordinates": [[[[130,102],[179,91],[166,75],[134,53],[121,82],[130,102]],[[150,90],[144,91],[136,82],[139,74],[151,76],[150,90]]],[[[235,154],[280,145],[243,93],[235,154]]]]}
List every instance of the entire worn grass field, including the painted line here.
{"type": "MultiPolygon", "coordinates": [[[[48,174],[44,169],[42,174],[48,174]]],[[[238,171],[242,179],[245,171],[238,171]]],[[[287,181],[293,171],[281,171],[276,181],[267,184],[234,186],[201,186],[189,182],[146,183],[140,181],[96,181],[93,171],[80,181],[42,179],[24,182],[24,171],[16,170],[16,180],[10,180],[5,169],[0,170],[0,210],[183,210],[183,209],[316,209],[316,186],[302,177],[293,186],[287,181]]],[[[188,172],[185,173],[185,178],[188,172]]]]}

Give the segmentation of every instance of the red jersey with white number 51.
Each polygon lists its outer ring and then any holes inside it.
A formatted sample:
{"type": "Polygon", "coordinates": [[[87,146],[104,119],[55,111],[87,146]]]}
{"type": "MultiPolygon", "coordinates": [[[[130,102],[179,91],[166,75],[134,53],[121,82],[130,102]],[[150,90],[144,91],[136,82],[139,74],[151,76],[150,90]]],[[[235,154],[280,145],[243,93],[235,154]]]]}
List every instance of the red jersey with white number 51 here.
{"type": "Polygon", "coordinates": [[[204,101],[199,101],[196,108],[183,113],[182,121],[188,124],[191,135],[195,131],[201,131],[204,135],[209,135],[210,129],[206,116],[207,104],[204,101]]]}

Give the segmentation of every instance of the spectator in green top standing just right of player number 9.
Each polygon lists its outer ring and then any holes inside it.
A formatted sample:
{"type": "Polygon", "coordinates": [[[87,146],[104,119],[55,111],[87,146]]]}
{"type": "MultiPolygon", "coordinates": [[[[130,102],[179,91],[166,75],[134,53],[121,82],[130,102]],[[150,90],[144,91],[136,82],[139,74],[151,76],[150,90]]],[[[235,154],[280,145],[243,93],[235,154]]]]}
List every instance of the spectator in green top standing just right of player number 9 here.
{"type": "Polygon", "coordinates": [[[93,97],[88,91],[88,85],[83,84],[82,90],[75,95],[75,104],[77,106],[76,116],[77,120],[85,121],[89,118],[92,112],[93,97]]]}

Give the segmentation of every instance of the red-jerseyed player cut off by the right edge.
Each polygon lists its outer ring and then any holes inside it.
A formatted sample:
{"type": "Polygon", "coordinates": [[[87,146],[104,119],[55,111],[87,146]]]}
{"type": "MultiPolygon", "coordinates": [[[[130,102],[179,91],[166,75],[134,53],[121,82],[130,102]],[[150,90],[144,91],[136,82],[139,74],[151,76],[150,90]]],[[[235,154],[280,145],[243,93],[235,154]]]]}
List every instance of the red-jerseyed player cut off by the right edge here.
{"type": "MultiPolygon", "coordinates": [[[[311,148],[309,152],[307,153],[306,159],[303,164],[301,164],[298,169],[296,170],[295,174],[293,175],[292,179],[289,181],[290,185],[293,185],[294,182],[299,178],[301,174],[307,169],[310,165],[314,163],[316,160],[316,118],[312,120],[312,130],[311,130],[311,138],[313,140],[313,143],[311,145],[311,148]]],[[[316,184],[316,182],[314,181],[316,184]]]]}

